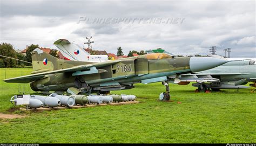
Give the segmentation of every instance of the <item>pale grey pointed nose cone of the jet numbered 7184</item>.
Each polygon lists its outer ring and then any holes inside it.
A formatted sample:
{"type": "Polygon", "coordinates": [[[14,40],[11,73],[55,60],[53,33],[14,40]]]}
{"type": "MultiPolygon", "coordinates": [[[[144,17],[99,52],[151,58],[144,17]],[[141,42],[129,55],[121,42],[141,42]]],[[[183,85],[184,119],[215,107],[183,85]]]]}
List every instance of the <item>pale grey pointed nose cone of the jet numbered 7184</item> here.
{"type": "Polygon", "coordinates": [[[214,57],[191,57],[190,69],[193,73],[200,72],[223,65],[226,62],[228,62],[228,60],[214,57]]]}

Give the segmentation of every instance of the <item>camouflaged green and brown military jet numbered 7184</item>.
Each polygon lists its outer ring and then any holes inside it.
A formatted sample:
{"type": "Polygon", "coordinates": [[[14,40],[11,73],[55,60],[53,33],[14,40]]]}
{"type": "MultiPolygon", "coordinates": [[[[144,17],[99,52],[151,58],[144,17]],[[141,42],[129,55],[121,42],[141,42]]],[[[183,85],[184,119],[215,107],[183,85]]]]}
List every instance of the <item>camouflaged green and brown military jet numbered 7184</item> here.
{"type": "Polygon", "coordinates": [[[152,53],[105,62],[59,60],[36,48],[32,52],[31,75],[5,79],[5,82],[30,83],[33,91],[66,92],[77,88],[84,94],[106,94],[131,89],[136,83],[165,81],[166,92],[160,100],[169,100],[168,77],[204,71],[225,64],[228,60],[212,57],[175,57],[152,53]]]}

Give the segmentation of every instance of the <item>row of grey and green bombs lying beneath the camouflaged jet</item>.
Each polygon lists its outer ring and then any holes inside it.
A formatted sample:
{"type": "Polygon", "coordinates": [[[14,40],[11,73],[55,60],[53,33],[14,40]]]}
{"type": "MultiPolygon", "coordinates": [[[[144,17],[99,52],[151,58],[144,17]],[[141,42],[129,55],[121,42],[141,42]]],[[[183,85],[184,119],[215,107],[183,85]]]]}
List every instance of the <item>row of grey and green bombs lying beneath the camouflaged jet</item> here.
{"type": "MultiPolygon", "coordinates": [[[[89,104],[100,104],[100,103],[111,103],[111,102],[121,102],[121,101],[134,101],[136,96],[134,95],[58,95],[52,93],[49,96],[42,95],[30,95],[29,108],[39,108],[39,107],[58,107],[67,106],[72,107],[74,105],[85,105],[89,104]]],[[[16,105],[17,95],[12,96],[11,103],[16,105]]]]}

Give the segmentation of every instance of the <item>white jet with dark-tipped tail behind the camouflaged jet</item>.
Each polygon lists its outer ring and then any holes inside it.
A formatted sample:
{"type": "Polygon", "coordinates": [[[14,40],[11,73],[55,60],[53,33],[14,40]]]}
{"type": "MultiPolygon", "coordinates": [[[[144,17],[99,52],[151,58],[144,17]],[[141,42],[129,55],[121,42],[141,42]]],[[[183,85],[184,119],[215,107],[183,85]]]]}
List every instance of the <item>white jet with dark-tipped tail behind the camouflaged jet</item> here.
{"type": "Polygon", "coordinates": [[[66,39],[58,39],[53,43],[64,55],[66,60],[103,62],[109,60],[107,55],[90,55],[77,44],[70,43],[66,39]]]}

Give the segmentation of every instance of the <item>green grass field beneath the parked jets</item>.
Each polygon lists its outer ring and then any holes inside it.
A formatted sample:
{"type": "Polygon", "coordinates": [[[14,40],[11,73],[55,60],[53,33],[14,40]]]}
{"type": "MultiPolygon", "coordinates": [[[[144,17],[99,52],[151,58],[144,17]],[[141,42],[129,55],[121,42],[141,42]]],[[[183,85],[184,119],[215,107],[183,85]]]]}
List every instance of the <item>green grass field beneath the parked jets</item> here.
{"type": "MultiPolygon", "coordinates": [[[[23,71],[29,74],[31,69],[23,71]]],[[[9,69],[8,78],[21,75],[9,69]]],[[[18,84],[3,82],[0,112],[10,113],[18,84]]],[[[22,119],[0,120],[0,143],[255,143],[256,93],[250,89],[194,93],[191,85],[170,85],[173,102],[158,101],[160,83],[114,91],[133,94],[139,104],[21,112],[22,119]],[[181,103],[178,103],[181,102],[181,103]]]]}

